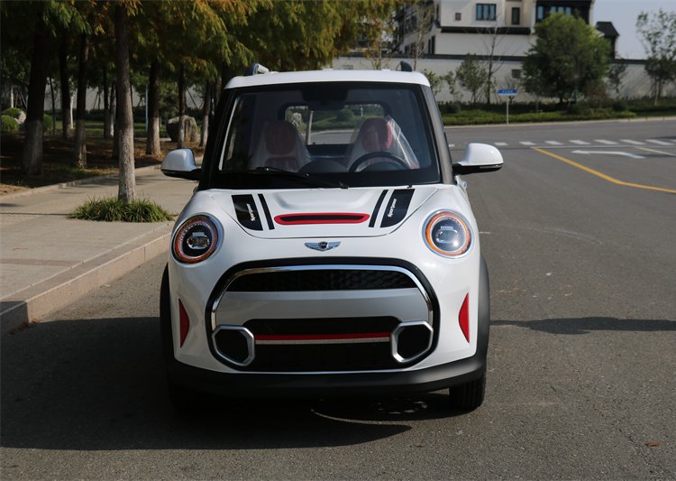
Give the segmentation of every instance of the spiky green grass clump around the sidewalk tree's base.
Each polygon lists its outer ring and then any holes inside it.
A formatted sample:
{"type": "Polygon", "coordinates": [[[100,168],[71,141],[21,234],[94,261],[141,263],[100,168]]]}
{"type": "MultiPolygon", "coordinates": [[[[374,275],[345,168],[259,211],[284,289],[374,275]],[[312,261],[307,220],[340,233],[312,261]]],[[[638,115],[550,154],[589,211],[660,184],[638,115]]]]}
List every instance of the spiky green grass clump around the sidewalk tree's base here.
{"type": "Polygon", "coordinates": [[[105,222],[163,222],[173,218],[169,212],[149,199],[124,204],[122,200],[114,197],[87,200],[76,208],[70,217],[105,222]]]}

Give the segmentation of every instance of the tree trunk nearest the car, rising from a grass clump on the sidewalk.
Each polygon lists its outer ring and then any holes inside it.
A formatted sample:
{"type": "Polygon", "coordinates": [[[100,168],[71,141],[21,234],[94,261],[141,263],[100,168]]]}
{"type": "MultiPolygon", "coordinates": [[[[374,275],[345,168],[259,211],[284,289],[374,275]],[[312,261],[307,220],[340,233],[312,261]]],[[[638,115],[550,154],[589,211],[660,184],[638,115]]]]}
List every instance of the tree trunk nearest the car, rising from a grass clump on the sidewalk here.
{"type": "Polygon", "coordinates": [[[115,5],[115,63],[117,73],[117,118],[119,138],[120,175],[117,198],[124,203],[134,199],[136,179],[133,158],[132,82],[129,67],[129,32],[124,5],[115,5]]]}

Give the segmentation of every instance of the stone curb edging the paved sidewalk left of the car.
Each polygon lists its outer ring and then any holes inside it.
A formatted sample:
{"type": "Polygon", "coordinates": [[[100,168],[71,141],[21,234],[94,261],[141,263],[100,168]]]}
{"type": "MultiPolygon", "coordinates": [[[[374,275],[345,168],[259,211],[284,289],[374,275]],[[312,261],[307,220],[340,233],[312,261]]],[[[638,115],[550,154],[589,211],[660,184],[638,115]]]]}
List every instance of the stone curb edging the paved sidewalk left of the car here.
{"type": "Polygon", "coordinates": [[[0,301],[0,333],[5,335],[36,322],[153,257],[167,253],[172,226],[173,223],[162,226],[3,299],[0,301]]]}

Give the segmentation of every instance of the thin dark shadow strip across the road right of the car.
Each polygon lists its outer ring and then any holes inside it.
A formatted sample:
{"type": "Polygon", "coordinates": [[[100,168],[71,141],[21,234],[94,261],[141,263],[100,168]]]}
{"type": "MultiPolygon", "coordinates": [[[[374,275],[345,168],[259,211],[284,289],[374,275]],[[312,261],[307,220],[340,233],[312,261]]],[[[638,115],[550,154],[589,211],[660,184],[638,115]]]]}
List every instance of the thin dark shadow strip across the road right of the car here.
{"type": "Polygon", "coordinates": [[[516,326],[548,332],[551,334],[588,334],[591,331],[635,331],[669,332],[676,331],[676,321],[665,319],[538,319],[538,320],[493,320],[491,326],[516,326]]]}

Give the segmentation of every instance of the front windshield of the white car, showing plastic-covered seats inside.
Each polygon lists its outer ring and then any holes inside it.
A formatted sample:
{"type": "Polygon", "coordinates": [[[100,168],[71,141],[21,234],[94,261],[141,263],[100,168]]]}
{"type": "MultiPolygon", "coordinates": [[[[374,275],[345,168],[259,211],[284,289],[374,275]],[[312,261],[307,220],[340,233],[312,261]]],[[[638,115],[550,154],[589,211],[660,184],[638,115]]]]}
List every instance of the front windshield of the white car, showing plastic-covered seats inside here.
{"type": "Polygon", "coordinates": [[[233,97],[215,187],[289,189],[438,182],[418,85],[292,84],[233,97]]]}

